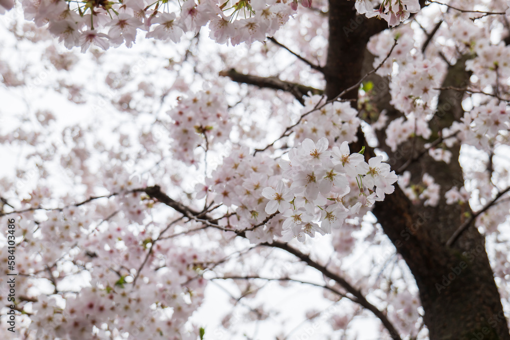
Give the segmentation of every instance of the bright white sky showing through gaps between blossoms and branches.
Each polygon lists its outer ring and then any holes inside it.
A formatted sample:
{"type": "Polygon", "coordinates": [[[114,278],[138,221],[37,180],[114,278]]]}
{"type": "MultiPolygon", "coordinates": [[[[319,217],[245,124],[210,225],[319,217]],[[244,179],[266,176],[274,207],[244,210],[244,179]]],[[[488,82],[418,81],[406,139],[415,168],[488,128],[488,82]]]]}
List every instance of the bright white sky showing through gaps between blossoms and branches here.
{"type": "MultiPolygon", "coordinates": [[[[18,4],[19,6],[19,4],[18,4]]],[[[132,138],[138,138],[136,135],[136,130],[131,130],[133,127],[133,121],[129,114],[126,113],[118,113],[114,109],[112,109],[110,104],[104,104],[104,102],[118,96],[119,92],[114,90],[108,90],[103,93],[103,98],[98,96],[87,96],[86,104],[74,104],[69,102],[65,95],[54,94],[54,91],[48,91],[47,87],[51,87],[59,77],[61,76],[61,72],[55,70],[55,68],[46,67],[48,63],[45,63],[44,66],[41,62],[39,62],[40,55],[42,53],[42,49],[47,46],[47,42],[42,42],[38,44],[33,44],[31,42],[21,42],[18,44],[18,50],[14,50],[15,39],[12,37],[10,33],[6,32],[6,27],[12,22],[12,19],[20,18],[19,12],[11,11],[7,16],[0,16],[0,23],[2,23],[0,28],[0,34],[2,36],[2,42],[0,43],[0,60],[5,60],[6,58],[11,58],[9,63],[12,65],[25,65],[31,64],[31,69],[33,74],[36,76],[33,79],[33,83],[29,85],[32,92],[25,89],[20,88],[0,88],[0,135],[5,133],[8,130],[12,130],[17,124],[17,118],[26,117],[27,122],[23,123],[26,126],[37,126],[37,123],[34,123],[33,120],[35,118],[35,111],[40,109],[48,109],[52,111],[57,117],[57,122],[54,125],[55,131],[60,132],[64,126],[69,126],[73,124],[87,124],[93,125],[96,128],[97,134],[104,136],[104,141],[106,143],[118,143],[117,139],[109,138],[108,136],[111,133],[112,127],[114,125],[120,125],[120,130],[122,133],[130,135],[132,138]],[[12,62],[13,58],[16,58],[16,62],[12,62]],[[20,58],[20,59],[17,59],[20,58]],[[12,62],[12,63],[11,63],[12,62]],[[93,107],[99,107],[100,110],[96,110],[93,107]],[[109,125],[104,124],[108,121],[111,121],[109,125]],[[16,118],[16,119],[14,119],[16,118]],[[130,122],[131,120],[131,122],[130,122]],[[32,121],[32,122],[31,122],[32,121]],[[122,125],[119,122],[125,122],[125,125],[122,125]]],[[[22,17],[22,15],[21,15],[22,17]]],[[[284,29],[285,30],[285,29],[284,29]]],[[[210,41],[207,43],[209,38],[206,37],[207,32],[202,30],[202,37],[200,48],[202,52],[206,52],[205,49],[209,48],[210,53],[217,53],[218,46],[210,41]]],[[[140,37],[139,37],[140,38],[140,37]]],[[[316,40],[314,43],[320,45],[320,41],[316,40]]],[[[59,45],[60,51],[66,51],[67,49],[61,45],[59,45]]],[[[179,45],[173,43],[157,43],[154,44],[152,41],[146,41],[143,39],[139,39],[139,42],[135,44],[134,48],[127,49],[125,47],[119,47],[117,49],[111,48],[106,52],[103,57],[100,57],[102,63],[104,65],[104,69],[106,70],[114,70],[115,72],[120,71],[121,66],[124,63],[130,63],[132,65],[132,72],[134,73],[134,77],[136,79],[143,79],[145,74],[151,74],[150,79],[147,79],[150,82],[154,82],[155,87],[159,88],[168,88],[173,84],[175,79],[158,79],[154,77],[152,72],[157,70],[158,68],[163,68],[168,64],[168,61],[165,61],[164,58],[175,58],[178,59],[184,53],[184,50],[187,48],[186,43],[182,43],[179,45]],[[146,56],[144,51],[150,51],[150,56],[146,56]],[[155,56],[159,57],[156,58],[155,56]],[[163,58],[164,57],[164,58],[163,58]],[[133,66],[138,66],[138,71],[135,71],[136,68],[133,66]]],[[[243,57],[248,56],[245,51],[243,51],[244,45],[239,47],[227,47],[227,46],[219,46],[219,49],[226,53],[226,51],[236,51],[237,58],[242,59],[243,57]]],[[[79,51],[79,48],[74,48],[74,50],[79,51]]],[[[80,67],[81,69],[75,69],[70,73],[69,78],[66,79],[69,83],[83,83],[88,82],[89,88],[96,89],[106,89],[104,85],[104,80],[106,76],[106,72],[98,68],[95,65],[95,61],[90,58],[90,50],[86,55],[81,55],[78,53],[78,57],[80,57],[80,67]],[[93,71],[92,71],[93,70],[93,71]],[[97,73],[96,73],[97,72],[97,73]]],[[[288,55],[286,55],[288,57],[288,55]]],[[[292,64],[292,58],[282,58],[282,63],[292,64]]],[[[251,60],[251,62],[262,62],[257,60],[251,60]]],[[[244,61],[246,62],[246,61],[244,61]]],[[[246,62],[248,63],[248,62],[246,62]]],[[[218,65],[216,65],[218,66],[218,65]]],[[[280,67],[283,69],[286,65],[281,65],[280,67]]],[[[187,66],[189,67],[189,66],[187,66]]],[[[264,65],[261,66],[264,69],[264,65]]],[[[274,75],[275,68],[267,67],[267,74],[262,75],[274,75]]],[[[193,70],[189,68],[189,72],[193,70]]],[[[169,74],[169,73],[168,73],[169,74]]],[[[285,76],[285,74],[284,74],[285,76]]],[[[311,79],[312,86],[321,87],[320,81],[316,81],[311,79]]],[[[135,82],[136,84],[136,82],[135,82]]],[[[193,89],[200,90],[200,82],[195,82],[193,89]]],[[[228,98],[228,100],[233,98],[228,98]]],[[[230,100],[232,101],[232,100],[230,100]]],[[[234,104],[235,102],[230,102],[234,104]]],[[[158,102],[152,103],[156,108],[159,107],[158,102]]],[[[175,104],[175,99],[172,99],[172,95],[167,97],[167,101],[165,101],[164,106],[162,107],[161,112],[166,111],[170,108],[171,105],[175,104]]],[[[299,106],[295,106],[295,108],[299,108],[299,106]]],[[[241,110],[241,109],[240,109],[241,110]]],[[[266,111],[261,110],[260,112],[261,122],[267,123],[267,117],[269,115],[269,110],[266,111]]],[[[137,119],[141,122],[149,124],[151,122],[150,115],[139,116],[137,119]]],[[[144,128],[144,126],[142,126],[144,128]]],[[[162,132],[164,133],[164,132],[162,132]]],[[[274,131],[272,134],[269,134],[266,139],[268,141],[273,140],[279,133],[274,131]]],[[[113,135],[112,135],[113,136],[113,135]]],[[[116,137],[116,135],[115,135],[116,137]]],[[[61,136],[55,136],[56,139],[61,136]]],[[[464,151],[464,149],[463,149],[464,151]]],[[[0,154],[2,155],[3,164],[8,164],[12,166],[22,166],[28,169],[34,167],[34,164],[25,164],[24,155],[27,150],[19,150],[16,148],[10,149],[5,146],[0,146],[0,154]]],[[[472,152],[472,150],[467,150],[466,152],[472,152]]],[[[510,167],[510,160],[507,158],[508,150],[502,150],[501,152],[497,152],[497,161],[498,166],[501,167],[510,167]],[[501,162],[501,163],[499,163],[501,162]]],[[[469,155],[471,157],[471,154],[469,155]]],[[[154,162],[150,164],[141,164],[135,165],[133,167],[128,168],[132,172],[142,173],[144,169],[150,168],[154,164],[157,163],[157,159],[154,159],[154,162]]],[[[209,160],[211,163],[214,163],[214,159],[209,160]]],[[[464,162],[464,158],[461,157],[461,162],[464,162]]],[[[464,164],[463,164],[464,165],[464,164]]],[[[98,165],[99,166],[99,165],[98,165]]],[[[213,166],[211,165],[211,168],[213,166]]],[[[210,168],[210,169],[211,169],[210,168]]],[[[196,182],[196,178],[203,178],[203,169],[199,169],[197,171],[188,171],[185,172],[187,168],[184,166],[176,167],[175,173],[183,176],[183,183],[185,185],[185,190],[190,192],[194,188],[194,184],[196,182]],[[186,175],[187,173],[187,175],[186,175]]],[[[12,174],[14,170],[13,167],[4,166],[0,167],[0,176],[12,174]]],[[[66,178],[65,176],[60,176],[59,173],[56,173],[54,177],[48,178],[48,182],[50,186],[57,194],[65,194],[68,192],[68,188],[72,187],[72,182],[64,182],[62,183],[62,178],[66,178]]],[[[34,186],[35,182],[30,177],[27,178],[26,182],[20,182],[19,187],[30,188],[34,186]]],[[[373,227],[370,223],[366,223],[364,225],[362,232],[366,234],[371,233],[373,231],[373,227]]],[[[379,231],[380,234],[380,231],[379,231]]],[[[326,237],[317,237],[314,240],[308,240],[308,243],[318,243],[321,246],[314,247],[315,249],[323,249],[323,253],[317,253],[316,255],[321,258],[322,263],[327,261],[329,252],[331,251],[331,245],[329,241],[330,236],[326,237]]],[[[356,253],[351,254],[350,256],[343,259],[342,268],[348,268],[346,271],[347,277],[349,277],[349,273],[354,274],[355,277],[360,276],[369,276],[370,269],[375,268],[376,270],[381,270],[388,259],[392,258],[394,254],[394,247],[388,241],[385,236],[377,236],[376,240],[378,240],[381,245],[376,246],[368,246],[368,244],[363,247],[357,247],[356,253]],[[377,260],[377,266],[373,266],[370,261],[372,258],[380,259],[377,260]],[[363,275],[360,275],[362,273],[363,275]]],[[[291,257],[289,257],[291,258],[291,257]]],[[[399,262],[399,265],[401,263],[399,262]]],[[[388,272],[388,268],[384,267],[386,272],[388,272]]],[[[375,270],[374,269],[374,270],[375,270]]],[[[407,283],[411,283],[410,289],[415,289],[414,281],[412,278],[409,278],[409,274],[405,273],[406,267],[403,269],[403,272],[407,277],[407,283]]],[[[373,273],[372,273],[373,274],[373,273]]],[[[267,276],[271,276],[269,273],[267,276]]],[[[303,280],[315,281],[320,283],[322,280],[322,276],[319,275],[314,270],[309,270],[307,275],[302,277],[303,280]]],[[[398,278],[397,285],[398,285],[398,278]]],[[[355,286],[360,286],[363,282],[353,282],[355,286]]],[[[368,282],[369,284],[373,282],[368,282]]],[[[400,282],[401,283],[401,282],[400,282]]],[[[220,289],[219,285],[226,287],[227,289],[231,289],[232,293],[236,293],[235,289],[233,289],[233,285],[229,282],[223,282],[216,280],[215,284],[210,284],[206,290],[206,300],[203,306],[195,313],[193,316],[192,322],[205,327],[206,328],[206,339],[219,339],[219,338],[232,338],[232,339],[246,339],[246,336],[243,336],[242,332],[237,333],[234,337],[231,337],[228,331],[225,331],[221,325],[221,319],[223,316],[231,311],[230,303],[228,295],[224,292],[224,290],[220,289]],[[225,334],[222,336],[221,334],[225,334]]],[[[320,332],[325,331],[329,333],[330,330],[328,327],[324,326],[324,320],[328,316],[328,313],[331,313],[331,309],[328,309],[333,302],[325,300],[322,298],[322,292],[319,289],[308,285],[299,285],[299,284],[291,284],[292,288],[286,287],[283,288],[278,285],[277,282],[270,282],[268,286],[264,289],[264,292],[258,297],[255,301],[246,301],[250,306],[256,306],[257,303],[262,301],[269,301],[267,306],[276,306],[283,311],[282,315],[279,316],[271,316],[267,320],[259,322],[258,325],[250,324],[247,328],[243,328],[243,331],[246,332],[247,336],[252,336],[255,332],[257,334],[258,339],[267,339],[274,338],[275,332],[279,330],[281,326],[282,320],[286,320],[284,324],[284,329],[286,334],[290,331],[294,330],[289,339],[307,339],[307,338],[323,338],[323,335],[319,335],[320,332]],[[310,325],[303,324],[304,313],[310,308],[315,308],[317,310],[324,310],[323,315],[318,317],[319,320],[322,320],[321,327],[314,331],[310,337],[307,337],[307,327],[310,325]],[[296,328],[297,327],[297,328],[296,328]]],[[[243,302],[244,300],[242,300],[243,302]]],[[[371,301],[377,305],[377,301],[371,301]]],[[[344,311],[351,310],[352,303],[344,302],[335,305],[334,311],[344,311]]],[[[243,307],[238,307],[236,311],[243,310],[243,307]]],[[[238,312],[235,312],[235,317],[233,321],[236,321],[236,316],[239,316],[238,312]]],[[[242,316],[239,316],[240,322],[242,322],[242,316]]],[[[349,331],[349,336],[358,335],[359,340],[375,340],[378,338],[378,321],[375,321],[371,316],[370,312],[364,312],[362,315],[356,317],[353,321],[353,327],[351,327],[349,331]]],[[[236,328],[235,328],[236,329],[236,328]]],[[[334,338],[338,338],[338,332],[334,333],[334,338]]]]}

